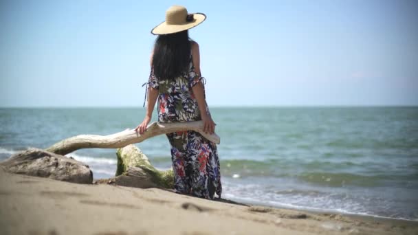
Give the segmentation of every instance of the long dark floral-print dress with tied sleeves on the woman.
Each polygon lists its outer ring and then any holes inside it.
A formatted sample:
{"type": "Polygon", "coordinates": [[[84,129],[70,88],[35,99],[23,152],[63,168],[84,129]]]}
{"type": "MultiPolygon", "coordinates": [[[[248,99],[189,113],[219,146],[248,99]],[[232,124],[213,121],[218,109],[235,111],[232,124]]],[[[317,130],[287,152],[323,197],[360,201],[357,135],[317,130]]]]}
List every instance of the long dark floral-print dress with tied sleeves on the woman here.
{"type": "MultiPolygon", "coordinates": [[[[195,72],[191,53],[188,71],[174,80],[159,80],[151,69],[148,85],[159,90],[158,122],[201,120],[192,87],[202,79],[195,72]]],[[[206,111],[210,115],[208,108],[206,111]]],[[[216,192],[221,198],[221,172],[216,144],[195,131],[179,131],[166,136],[171,146],[175,192],[206,199],[214,199],[216,192]]]]}

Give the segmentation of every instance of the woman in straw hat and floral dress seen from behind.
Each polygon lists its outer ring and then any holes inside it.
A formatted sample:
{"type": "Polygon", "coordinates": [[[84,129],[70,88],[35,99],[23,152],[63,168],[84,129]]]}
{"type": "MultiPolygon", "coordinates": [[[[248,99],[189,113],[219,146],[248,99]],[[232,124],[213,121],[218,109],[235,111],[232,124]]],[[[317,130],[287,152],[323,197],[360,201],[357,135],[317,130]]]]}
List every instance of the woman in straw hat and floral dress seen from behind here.
{"type": "MultiPolygon", "coordinates": [[[[202,120],[203,131],[214,133],[214,124],[200,71],[199,45],[188,38],[188,29],[206,19],[205,14],[188,14],[186,8],[172,6],[166,21],[154,27],[159,35],[151,53],[148,103],[144,121],[135,131],[141,134],[151,121],[158,99],[158,122],[202,120]]],[[[221,175],[216,144],[195,131],[167,134],[171,146],[175,192],[195,197],[221,197],[221,175]]]]}

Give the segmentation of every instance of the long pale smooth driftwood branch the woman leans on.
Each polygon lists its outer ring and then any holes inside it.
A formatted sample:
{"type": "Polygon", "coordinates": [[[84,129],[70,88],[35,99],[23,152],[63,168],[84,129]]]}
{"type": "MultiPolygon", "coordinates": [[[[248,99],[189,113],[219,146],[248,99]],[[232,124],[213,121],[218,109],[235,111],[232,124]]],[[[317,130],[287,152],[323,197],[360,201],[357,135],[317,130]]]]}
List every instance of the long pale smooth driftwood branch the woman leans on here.
{"type": "Polygon", "coordinates": [[[58,142],[45,149],[49,152],[66,155],[81,148],[123,148],[129,144],[143,142],[145,139],[177,131],[197,131],[203,137],[219,144],[221,139],[214,133],[212,135],[203,132],[203,122],[153,122],[147,126],[146,131],[140,135],[134,129],[126,129],[112,135],[76,135],[58,142]]]}

